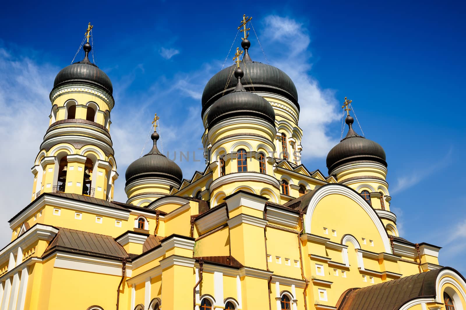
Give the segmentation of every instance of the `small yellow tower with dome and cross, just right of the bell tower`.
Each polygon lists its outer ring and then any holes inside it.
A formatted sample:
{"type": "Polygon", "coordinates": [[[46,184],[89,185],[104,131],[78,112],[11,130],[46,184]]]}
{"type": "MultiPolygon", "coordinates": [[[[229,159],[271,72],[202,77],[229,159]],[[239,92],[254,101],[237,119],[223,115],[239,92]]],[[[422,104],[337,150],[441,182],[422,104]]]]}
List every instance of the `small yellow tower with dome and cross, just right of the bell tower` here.
{"type": "Polygon", "coordinates": [[[159,135],[157,114],[154,117],[153,146],[149,153],[138,158],[126,169],[125,192],[127,203],[144,207],[159,197],[170,195],[173,188],[179,188],[183,172],[179,166],[163,155],[157,148],[159,135]]]}

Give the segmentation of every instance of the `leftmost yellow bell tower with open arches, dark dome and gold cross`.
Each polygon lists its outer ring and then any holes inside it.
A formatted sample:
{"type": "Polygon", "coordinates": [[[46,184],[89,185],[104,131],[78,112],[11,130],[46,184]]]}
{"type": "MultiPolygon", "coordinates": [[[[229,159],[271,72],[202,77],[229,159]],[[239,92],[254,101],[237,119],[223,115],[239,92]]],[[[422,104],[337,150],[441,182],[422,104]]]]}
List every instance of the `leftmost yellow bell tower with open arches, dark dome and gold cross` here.
{"type": "Polygon", "coordinates": [[[36,156],[32,199],[64,192],[111,200],[118,177],[110,138],[110,112],[115,104],[110,78],[85,56],[63,68],[50,92],[50,124],[36,156]]]}

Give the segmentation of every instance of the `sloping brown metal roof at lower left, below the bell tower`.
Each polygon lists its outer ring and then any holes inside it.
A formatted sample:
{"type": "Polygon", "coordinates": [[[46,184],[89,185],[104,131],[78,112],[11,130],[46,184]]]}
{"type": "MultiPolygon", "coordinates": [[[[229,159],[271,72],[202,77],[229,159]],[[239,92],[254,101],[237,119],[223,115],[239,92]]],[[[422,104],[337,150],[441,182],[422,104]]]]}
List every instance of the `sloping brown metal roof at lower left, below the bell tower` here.
{"type": "Polygon", "coordinates": [[[43,256],[47,256],[55,249],[62,249],[91,256],[104,256],[108,258],[128,257],[123,247],[111,236],[75,229],[57,228],[59,229],[58,234],[50,242],[43,256]]]}

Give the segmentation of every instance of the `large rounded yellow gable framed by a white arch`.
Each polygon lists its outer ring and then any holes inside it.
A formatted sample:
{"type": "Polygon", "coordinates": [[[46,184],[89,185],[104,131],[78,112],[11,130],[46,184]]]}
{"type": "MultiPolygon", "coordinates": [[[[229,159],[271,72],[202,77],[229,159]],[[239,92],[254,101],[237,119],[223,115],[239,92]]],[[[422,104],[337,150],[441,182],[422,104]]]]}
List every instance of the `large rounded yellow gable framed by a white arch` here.
{"type": "MultiPolygon", "coordinates": [[[[340,229],[341,234],[349,234],[355,229],[361,230],[363,234],[377,234],[383,251],[392,253],[384,224],[375,210],[355,190],[347,186],[328,184],[315,191],[307,207],[305,231],[321,235],[322,232],[318,230],[322,229],[320,226],[328,225],[324,222],[341,226],[335,227],[336,230],[340,229]],[[319,218],[316,219],[316,216],[319,218]],[[319,226],[313,228],[312,222],[318,222],[319,226]]],[[[376,236],[373,238],[376,239],[376,236]]]]}

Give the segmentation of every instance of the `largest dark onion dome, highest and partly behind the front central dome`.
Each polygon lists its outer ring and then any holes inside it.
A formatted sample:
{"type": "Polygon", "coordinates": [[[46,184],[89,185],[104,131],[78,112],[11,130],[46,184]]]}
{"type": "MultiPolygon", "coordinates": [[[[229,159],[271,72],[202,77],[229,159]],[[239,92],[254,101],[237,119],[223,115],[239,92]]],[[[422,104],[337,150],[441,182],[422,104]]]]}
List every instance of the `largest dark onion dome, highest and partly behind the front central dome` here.
{"type": "MultiPolygon", "coordinates": [[[[245,74],[245,78],[242,81],[244,88],[248,91],[264,91],[280,94],[293,102],[299,111],[298,92],[296,91],[295,83],[279,68],[252,61],[247,53],[250,45],[249,40],[243,40],[241,43],[241,46],[245,50],[243,62],[240,63],[240,68],[245,74]]],[[[235,88],[236,81],[232,77],[235,67],[236,65],[233,65],[221,70],[207,82],[202,93],[202,116],[204,116],[206,109],[212,106],[222,95],[228,94],[235,88]]]]}

